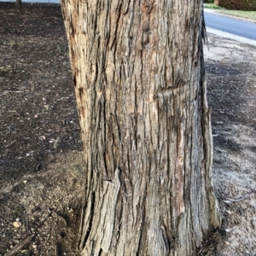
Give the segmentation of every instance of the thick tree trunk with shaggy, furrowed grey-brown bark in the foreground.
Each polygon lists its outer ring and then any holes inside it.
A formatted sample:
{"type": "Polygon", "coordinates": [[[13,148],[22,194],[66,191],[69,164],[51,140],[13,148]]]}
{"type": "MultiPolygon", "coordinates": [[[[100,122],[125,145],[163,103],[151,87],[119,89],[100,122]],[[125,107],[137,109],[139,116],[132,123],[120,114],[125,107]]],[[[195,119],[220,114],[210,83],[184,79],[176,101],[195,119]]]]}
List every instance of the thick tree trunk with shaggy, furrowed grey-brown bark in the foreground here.
{"type": "Polygon", "coordinates": [[[62,0],[86,178],[82,255],[195,255],[220,224],[201,0],[62,0]]]}

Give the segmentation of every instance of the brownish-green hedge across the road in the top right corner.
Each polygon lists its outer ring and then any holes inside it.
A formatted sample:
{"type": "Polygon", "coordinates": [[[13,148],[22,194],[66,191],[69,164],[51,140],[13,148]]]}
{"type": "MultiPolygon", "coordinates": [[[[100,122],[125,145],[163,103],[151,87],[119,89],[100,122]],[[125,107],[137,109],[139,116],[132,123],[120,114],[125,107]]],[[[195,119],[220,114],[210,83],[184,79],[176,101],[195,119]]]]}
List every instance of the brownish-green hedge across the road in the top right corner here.
{"type": "Polygon", "coordinates": [[[226,9],[256,11],[256,0],[219,0],[218,5],[226,9]]]}

